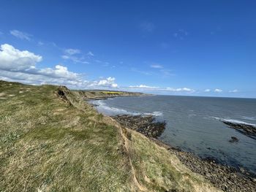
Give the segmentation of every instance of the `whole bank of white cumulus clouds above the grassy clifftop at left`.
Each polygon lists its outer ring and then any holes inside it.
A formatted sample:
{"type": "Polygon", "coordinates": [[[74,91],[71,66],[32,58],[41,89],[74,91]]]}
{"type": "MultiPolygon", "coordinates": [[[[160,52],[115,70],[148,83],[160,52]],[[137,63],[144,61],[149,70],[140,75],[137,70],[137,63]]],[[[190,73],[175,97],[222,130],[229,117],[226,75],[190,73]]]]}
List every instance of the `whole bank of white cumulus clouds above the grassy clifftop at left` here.
{"type": "Polygon", "coordinates": [[[12,45],[1,45],[0,77],[1,80],[23,82],[27,84],[67,85],[69,88],[118,88],[114,77],[99,81],[83,80],[82,74],[70,72],[61,64],[54,68],[38,69],[36,64],[42,56],[27,50],[18,50],[12,45]]]}

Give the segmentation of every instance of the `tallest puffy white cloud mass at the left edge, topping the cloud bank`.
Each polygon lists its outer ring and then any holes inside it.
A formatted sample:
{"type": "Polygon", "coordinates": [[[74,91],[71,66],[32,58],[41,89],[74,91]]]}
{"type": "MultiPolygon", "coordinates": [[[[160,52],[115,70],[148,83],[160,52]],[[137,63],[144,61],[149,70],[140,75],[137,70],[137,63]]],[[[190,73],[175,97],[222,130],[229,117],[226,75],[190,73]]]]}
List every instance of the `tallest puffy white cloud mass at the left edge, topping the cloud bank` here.
{"type": "Polygon", "coordinates": [[[12,45],[1,45],[0,49],[0,69],[8,71],[20,71],[34,68],[42,61],[42,56],[30,53],[27,50],[17,50],[12,45]]]}

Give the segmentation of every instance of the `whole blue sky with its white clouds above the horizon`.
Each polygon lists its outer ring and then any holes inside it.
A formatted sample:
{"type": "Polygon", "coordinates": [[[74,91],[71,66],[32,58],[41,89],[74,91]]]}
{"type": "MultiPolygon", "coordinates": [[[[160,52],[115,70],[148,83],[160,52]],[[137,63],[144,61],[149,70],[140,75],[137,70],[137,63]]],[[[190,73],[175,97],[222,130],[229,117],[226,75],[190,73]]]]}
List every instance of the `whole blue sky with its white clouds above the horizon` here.
{"type": "Polygon", "coordinates": [[[4,1],[0,79],[256,98],[256,1],[4,1]]]}

